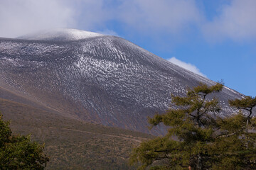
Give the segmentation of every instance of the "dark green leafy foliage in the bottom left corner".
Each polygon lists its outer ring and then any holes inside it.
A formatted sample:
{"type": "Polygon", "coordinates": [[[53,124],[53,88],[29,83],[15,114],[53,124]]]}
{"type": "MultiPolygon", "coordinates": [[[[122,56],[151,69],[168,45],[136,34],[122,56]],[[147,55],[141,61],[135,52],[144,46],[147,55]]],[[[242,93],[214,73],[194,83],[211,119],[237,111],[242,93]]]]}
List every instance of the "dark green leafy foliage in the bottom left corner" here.
{"type": "Polygon", "coordinates": [[[11,134],[9,122],[0,113],[0,169],[44,169],[49,161],[44,146],[31,142],[29,135],[11,134]]]}

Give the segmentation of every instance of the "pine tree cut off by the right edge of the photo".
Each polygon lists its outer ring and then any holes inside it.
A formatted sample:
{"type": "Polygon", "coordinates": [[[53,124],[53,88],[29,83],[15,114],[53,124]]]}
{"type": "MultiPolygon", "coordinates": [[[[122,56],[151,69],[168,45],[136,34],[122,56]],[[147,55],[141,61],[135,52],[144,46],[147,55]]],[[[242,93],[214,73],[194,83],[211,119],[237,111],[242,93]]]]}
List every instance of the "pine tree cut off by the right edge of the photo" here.
{"type": "Polygon", "coordinates": [[[215,141],[218,149],[223,151],[219,167],[223,169],[256,169],[256,118],[252,109],[256,98],[245,96],[229,101],[230,106],[240,112],[230,118],[219,119],[221,134],[215,141]]]}

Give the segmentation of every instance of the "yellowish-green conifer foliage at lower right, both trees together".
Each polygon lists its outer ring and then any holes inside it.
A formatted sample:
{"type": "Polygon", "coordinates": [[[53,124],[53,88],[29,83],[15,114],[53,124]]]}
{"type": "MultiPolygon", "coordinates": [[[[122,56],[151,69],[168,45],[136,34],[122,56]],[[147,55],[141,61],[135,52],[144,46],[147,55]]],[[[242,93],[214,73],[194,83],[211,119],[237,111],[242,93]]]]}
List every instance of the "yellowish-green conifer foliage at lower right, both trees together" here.
{"type": "MultiPolygon", "coordinates": [[[[149,118],[152,127],[169,126],[168,133],[134,148],[131,164],[140,163],[139,169],[256,169],[256,119],[248,121],[241,112],[221,118],[218,99],[207,96],[222,88],[201,84],[184,97],[172,96],[174,106],[149,118]]],[[[254,107],[251,99],[235,103],[254,107]]]]}

